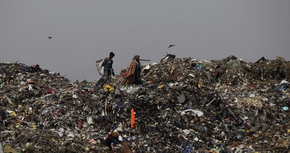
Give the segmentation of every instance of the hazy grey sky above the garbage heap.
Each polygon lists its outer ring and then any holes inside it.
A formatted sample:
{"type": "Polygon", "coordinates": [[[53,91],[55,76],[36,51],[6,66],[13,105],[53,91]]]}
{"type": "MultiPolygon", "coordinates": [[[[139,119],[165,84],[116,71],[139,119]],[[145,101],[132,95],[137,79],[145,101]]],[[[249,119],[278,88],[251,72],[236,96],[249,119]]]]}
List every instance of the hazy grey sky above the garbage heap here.
{"type": "Polygon", "coordinates": [[[109,52],[117,74],[136,54],[290,60],[289,8],[289,0],[0,0],[0,62],[39,64],[74,82],[98,80],[95,61],[109,52]]]}

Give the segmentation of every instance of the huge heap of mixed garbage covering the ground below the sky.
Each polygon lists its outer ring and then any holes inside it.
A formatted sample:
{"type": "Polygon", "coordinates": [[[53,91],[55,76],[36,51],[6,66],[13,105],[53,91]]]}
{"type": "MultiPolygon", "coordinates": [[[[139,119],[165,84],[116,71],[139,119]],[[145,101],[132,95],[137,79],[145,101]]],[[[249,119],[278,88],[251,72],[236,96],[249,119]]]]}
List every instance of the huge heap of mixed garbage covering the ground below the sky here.
{"type": "MultiPolygon", "coordinates": [[[[142,85],[70,82],[0,63],[5,152],[104,152],[111,132],[135,152],[287,152],[289,73],[283,57],[247,63],[166,55],[142,66],[142,85]]],[[[120,145],[113,146],[121,150],[120,145]]]]}

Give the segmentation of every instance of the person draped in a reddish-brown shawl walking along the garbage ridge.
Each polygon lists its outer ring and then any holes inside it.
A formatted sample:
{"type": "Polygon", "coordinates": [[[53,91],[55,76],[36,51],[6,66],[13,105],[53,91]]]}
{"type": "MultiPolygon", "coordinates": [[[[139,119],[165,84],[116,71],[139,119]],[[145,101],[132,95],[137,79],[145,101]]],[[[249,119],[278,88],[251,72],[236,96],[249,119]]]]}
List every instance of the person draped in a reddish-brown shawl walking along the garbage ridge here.
{"type": "Polygon", "coordinates": [[[132,62],[126,71],[125,80],[122,82],[122,85],[142,83],[141,64],[139,58],[139,55],[135,55],[133,57],[132,62]]]}

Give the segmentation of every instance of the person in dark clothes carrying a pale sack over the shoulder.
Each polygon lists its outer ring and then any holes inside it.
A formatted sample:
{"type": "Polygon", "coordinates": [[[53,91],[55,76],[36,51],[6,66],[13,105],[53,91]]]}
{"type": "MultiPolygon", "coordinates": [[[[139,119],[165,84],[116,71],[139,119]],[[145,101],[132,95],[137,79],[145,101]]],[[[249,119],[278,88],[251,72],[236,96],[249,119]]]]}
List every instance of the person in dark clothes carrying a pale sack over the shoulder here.
{"type": "MultiPolygon", "coordinates": [[[[111,79],[112,79],[112,76],[111,76],[111,71],[113,72],[113,68],[112,68],[112,65],[113,65],[113,60],[112,58],[114,57],[114,53],[111,52],[110,53],[110,56],[109,58],[106,58],[105,61],[104,61],[104,74],[105,74],[105,80],[104,80],[104,83],[111,83],[111,79]]],[[[114,75],[114,73],[113,73],[114,75]]]]}

